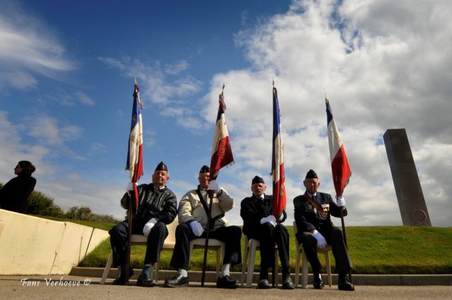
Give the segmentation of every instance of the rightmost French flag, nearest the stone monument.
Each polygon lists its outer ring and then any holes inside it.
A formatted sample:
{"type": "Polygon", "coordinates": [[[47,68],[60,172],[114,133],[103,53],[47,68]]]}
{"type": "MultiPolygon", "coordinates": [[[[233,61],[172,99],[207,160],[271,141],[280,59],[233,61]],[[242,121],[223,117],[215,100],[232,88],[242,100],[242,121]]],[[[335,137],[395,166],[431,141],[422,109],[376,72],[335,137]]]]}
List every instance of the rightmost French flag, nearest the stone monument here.
{"type": "Polygon", "coordinates": [[[336,196],[342,196],[345,186],[347,186],[352,170],[348,164],[347,155],[342,139],[340,138],[338,126],[333,119],[333,111],[330,102],[325,98],[326,119],[328,126],[328,143],[330,145],[331,171],[336,196]]]}

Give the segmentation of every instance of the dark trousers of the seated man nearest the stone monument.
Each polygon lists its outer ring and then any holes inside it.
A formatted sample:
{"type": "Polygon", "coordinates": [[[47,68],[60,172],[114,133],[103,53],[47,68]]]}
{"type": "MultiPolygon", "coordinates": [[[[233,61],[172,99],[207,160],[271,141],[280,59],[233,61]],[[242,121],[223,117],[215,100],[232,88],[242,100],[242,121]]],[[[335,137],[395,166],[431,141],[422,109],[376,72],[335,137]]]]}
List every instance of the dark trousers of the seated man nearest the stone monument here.
{"type": "MultiPolygon", "coordinates": [[[[319,230],[319,232],[326,239],[326,243],[331,245],[338,274],[348,272],[353,268],[350,257],[348,256],[347,247],[345,247],[342,230],[338,227],[332,227],[328,230],[319,230]]],[[[320,274],[322,265],[317,256],[316,238],[310,232],[299,232],[297,233],[297,239],[303,246],[304,253],[306,253],[309,264],[311,264],[312,272],[314,274],[320,274]]]]}

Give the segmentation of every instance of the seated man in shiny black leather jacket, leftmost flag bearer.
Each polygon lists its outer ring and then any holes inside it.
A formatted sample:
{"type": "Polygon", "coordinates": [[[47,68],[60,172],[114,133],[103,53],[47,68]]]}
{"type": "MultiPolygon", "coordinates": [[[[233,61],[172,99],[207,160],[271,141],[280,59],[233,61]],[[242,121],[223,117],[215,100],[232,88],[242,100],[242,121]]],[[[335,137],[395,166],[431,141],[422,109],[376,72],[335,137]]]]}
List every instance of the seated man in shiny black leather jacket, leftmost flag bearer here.
{"type": "MultiPolygon", "coordinates": [[[[169,179],[167,166],[160,162],[155,168],[152,184],[138,186],[138,211],[133,216],[132,234],[148,236],[144,267],[138,276],[136,284],[141,287],[155,287],[157,281],[151,279],[154,264],[160,257],[163,243],[168,236],[167,224],[174,221],[177,215],[176,195],[165,185],[169,179]]],[[[127,193],[121,199],[121,207],[128,210],[133,184],[126,188],[127,193]]],[[[126,247],[129,236],[129,220],[115,225],[109,231],[110,244],[113,251],[113,265],[121,268],[121,275],[113,284],[126,282],[126,247]]],[[[130,268],[129,277],[133,275],[130,268]]]]}

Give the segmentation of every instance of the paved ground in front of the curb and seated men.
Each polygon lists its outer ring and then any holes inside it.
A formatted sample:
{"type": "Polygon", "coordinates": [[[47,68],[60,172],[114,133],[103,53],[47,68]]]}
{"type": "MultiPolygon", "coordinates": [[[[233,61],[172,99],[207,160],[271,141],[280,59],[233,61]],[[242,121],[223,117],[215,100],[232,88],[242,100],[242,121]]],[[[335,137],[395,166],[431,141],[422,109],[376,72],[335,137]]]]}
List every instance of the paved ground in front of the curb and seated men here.
{"type": "MultiPolygon", "coordinates": [[[[0,276],[1,299],[40,300],[40,299],[325,299],[325,300],[436,300],[452,299],[452,285],[422,286],[375,286],[357,285],[355,292],[339,291],[336,286],[322,290],[312,289],[217,289],[212,283],[201,287],[199,282],[191,282],[189,287],[165,288],[162,281],[153,288],[113,286],[99,284],[98,277],[65,275],[52,276],[0,276]]],[[[134,284],[134,280],[131,284],[134,284]]],[[[452,282],[449,282],[451,284],[452,282]]]]}

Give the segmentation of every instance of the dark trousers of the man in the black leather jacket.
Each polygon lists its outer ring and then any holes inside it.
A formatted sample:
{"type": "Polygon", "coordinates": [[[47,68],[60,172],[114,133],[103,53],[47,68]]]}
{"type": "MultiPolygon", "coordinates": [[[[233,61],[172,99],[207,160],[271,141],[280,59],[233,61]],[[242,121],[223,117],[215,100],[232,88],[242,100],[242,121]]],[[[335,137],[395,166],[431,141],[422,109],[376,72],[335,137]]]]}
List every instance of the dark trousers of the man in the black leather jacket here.
{"type": "MultiPolygon", "coordinates": [[[[132,222],[132,234],[143,234],[142,222],[132,222]]],[[[113,251],[113,266],[126,265],[127,237],[129,236],[129,222],[120,222],[108,232],[113,251]]],[[[155,223],[148,236],[144,264],[157,263],[160,258],[163,243],[168,236],[167,225],[163,222],[155,223]]]]}

